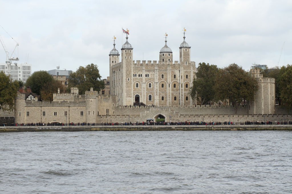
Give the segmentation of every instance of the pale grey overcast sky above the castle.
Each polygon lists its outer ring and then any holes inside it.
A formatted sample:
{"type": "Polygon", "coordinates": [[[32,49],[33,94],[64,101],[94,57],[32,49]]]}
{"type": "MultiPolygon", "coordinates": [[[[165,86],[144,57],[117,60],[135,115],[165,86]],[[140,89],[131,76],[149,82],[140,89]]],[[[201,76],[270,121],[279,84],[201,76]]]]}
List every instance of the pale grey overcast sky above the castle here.
{"type": "MultiPolygon", "coordinates": [[[[183,31],[191,60],[225,67],[237,63],[279,66],[292,62],[292,1],[3,1],[0,25],[19,42],[20,63],[33,71],[76,71],[97,64],[102,78],[109,75],[109,51],[126,41],[130,31],[133,60],[158,60],[164,46],[179,60],[183,31]],[[144,54],[144,57],[143,57],[144,54]]],[[[0,29],[9,51],[15,42],[0,29]]],[[[0,47],[0,63],[5,62],[0,47]]],[[[196,65],[197,66],[197,65],[196,65]]]]}

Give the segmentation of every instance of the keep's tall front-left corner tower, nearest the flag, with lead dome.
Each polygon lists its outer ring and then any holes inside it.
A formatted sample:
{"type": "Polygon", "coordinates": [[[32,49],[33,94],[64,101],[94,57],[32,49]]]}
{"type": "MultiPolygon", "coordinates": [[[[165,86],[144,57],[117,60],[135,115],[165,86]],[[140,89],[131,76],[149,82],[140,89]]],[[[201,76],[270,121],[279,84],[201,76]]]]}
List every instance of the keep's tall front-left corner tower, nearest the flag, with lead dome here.
{"type": "Polygon", "coordinates": [[[128,34],[126,42],[121,48],[122,62],[122,105],[130,105],[133,103],[133,47],[128,42],[128,34]]]}

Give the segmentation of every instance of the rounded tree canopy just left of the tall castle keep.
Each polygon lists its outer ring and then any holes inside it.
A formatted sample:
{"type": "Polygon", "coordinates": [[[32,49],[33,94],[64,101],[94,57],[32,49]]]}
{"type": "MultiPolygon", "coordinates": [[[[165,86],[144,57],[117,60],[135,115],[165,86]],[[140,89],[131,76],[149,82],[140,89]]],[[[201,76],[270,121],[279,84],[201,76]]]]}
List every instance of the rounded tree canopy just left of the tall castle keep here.
{"type": "Polygon", "coordinates": [[[101,80],[98,66],[93,63],[80,66],[76,72],[72,72],[69,76],[69,88],[77,87],[80,94],[85,94],[93,88],[95,91],[100,91],[105,88],[104,82],[101,80]]]}

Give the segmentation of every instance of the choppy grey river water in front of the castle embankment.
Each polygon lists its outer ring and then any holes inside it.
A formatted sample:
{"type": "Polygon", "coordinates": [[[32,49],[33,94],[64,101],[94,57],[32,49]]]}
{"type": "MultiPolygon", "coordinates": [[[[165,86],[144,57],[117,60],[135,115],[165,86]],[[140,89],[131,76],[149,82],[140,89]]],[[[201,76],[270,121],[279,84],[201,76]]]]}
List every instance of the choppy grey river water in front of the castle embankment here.
{"type": "Polygon", "coordinates": [[[291,131],[0,133],[0,193],[292,193],[291,131]]]}

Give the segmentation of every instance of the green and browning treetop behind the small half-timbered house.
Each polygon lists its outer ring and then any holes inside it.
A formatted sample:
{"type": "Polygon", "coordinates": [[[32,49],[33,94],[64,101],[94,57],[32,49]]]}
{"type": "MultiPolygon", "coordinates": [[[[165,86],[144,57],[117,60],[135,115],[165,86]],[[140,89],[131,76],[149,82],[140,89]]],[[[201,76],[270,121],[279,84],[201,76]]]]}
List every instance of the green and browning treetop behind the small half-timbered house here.
{"type": "Polygon", "coordinates": [[[61,82],[56,81],[46,71],[34,72],[26,81],[26,86],[32,89],[32,92],[41,96],[41,100],[53,101],[53,93],[64,90],[61,82]]]}

